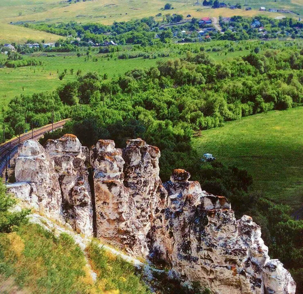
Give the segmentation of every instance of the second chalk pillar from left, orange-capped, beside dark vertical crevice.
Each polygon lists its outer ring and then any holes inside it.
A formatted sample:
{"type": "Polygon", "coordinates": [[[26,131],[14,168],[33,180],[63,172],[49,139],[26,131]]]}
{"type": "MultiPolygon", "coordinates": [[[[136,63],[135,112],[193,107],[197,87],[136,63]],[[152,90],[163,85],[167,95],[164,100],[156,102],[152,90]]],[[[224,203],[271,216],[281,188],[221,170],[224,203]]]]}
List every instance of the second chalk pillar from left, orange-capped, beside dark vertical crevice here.
{"type": "Polygon", "coordinates": [[[76,136],[66,134],[58,140],[47,140],[45,150],[55,162],[65,220],[76,232],[91,236],[92,196],[85,164],[88,148],[76,136]]]}

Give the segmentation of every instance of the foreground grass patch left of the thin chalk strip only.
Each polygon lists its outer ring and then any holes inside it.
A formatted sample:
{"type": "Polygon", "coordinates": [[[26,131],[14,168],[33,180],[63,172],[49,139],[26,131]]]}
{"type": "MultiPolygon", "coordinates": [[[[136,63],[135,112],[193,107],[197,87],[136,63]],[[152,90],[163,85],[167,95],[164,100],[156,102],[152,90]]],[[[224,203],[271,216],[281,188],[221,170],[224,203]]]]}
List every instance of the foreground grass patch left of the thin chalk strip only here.
{"type": "Polygon", "coordinates": [[[83,252],[68,234],[55,237],[29,224],[0,235],[0,282],[11,277],[25,293],[96,293],[85,265],[83,252]]]}

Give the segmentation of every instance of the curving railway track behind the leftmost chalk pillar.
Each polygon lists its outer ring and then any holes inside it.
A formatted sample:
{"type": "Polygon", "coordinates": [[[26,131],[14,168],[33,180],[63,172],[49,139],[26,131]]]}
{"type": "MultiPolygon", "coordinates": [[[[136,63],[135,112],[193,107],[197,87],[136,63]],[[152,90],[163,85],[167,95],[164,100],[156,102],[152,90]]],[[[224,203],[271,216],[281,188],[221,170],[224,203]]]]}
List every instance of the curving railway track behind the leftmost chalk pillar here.
{"type": "MultiPolygon", "coordinates": [[[[40,137],[42,137],[46,132],[49,132],[52,130],[52,128],[55,129],[59,129],[62,126],[65,125],[65,123],[67,121],[69,121],[70,119],[63,119],[60,120],[56,123],[53,124],[49,124],[46,126],[42,126],[41,128],[38,129],[34,129],[33,131],[24,133],[22,135],[20,135],[20,143],[28,140],[28,139],[38,139],[40,137]]],[[[5,169],[6,163],[8,162],[9,158],[11,155],[13,155],[19,146],[19,137],[15,137],[11,140],[9,140],[8,142],[5,142],[3,144],[0,145],[0,177],[2,172],[5,169]]]]}

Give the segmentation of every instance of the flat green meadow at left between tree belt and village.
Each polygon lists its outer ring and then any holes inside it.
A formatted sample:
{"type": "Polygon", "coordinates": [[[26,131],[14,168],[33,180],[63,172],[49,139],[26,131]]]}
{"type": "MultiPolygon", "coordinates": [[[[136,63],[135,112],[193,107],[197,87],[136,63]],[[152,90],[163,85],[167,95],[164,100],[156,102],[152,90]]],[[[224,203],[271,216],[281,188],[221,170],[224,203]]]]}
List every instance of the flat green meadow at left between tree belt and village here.
{"type": "MultiPolygon", "coordinates": [[[[100,56],[100,54],[97,54],[100,56]]],[[[156,64],[159,59],[110,59],[99,57],[98,61],[85,61],[85,57],[77,57],[74,54],[56,54],[56,57],[41,56],[37,59],[42,60],[42,66],[26,66],[18,68],[0,68],[0,103],[7,104],[16,95],[32,94],[35,92],[43,92],[55,90],[58,86],[76,79],[78,69],[82,70],[82,74],[88,71],[96,71],[99,74],[108,74],[108,78],[114,75],[124,74],[125,71],[135,67],[151,67],[156,64]],[[68,70],[68,74],[63,80],[59,80],[57,70],[62,72],[68,70]],[[73,75],[69,70],[74,69],[73,75]],[[23,88],[24,87],[24,88],[23,88]],[[24,89],[24,90],[23,90],[24,89]]]]}

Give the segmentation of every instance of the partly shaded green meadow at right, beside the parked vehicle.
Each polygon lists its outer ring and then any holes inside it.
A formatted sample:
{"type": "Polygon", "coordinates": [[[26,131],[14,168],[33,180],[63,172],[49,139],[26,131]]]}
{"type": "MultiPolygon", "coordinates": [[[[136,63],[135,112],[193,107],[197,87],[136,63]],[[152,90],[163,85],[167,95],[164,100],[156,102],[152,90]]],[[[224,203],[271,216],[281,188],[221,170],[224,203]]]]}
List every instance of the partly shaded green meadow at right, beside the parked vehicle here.
{"type": "Polygon", "coordinates": [[[253,176],[252,192],[298,209],[303,203],[303,107],[271,111],[226,123],[193,140],[253,176]]]}

